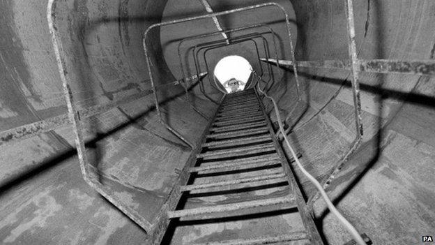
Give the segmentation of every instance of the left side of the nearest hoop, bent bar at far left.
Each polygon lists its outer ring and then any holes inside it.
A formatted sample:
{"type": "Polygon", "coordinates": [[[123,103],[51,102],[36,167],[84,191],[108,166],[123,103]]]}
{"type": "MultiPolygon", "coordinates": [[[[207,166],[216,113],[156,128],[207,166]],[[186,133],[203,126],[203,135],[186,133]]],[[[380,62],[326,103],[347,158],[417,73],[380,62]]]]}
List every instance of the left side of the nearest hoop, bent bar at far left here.
{"type": "Polygon", "coordinates": [[[138,214],[137,211],[130,208],[128,205],[124,205],[123,202],[121,202],[121,200],[115,195],[112,195],[110,191],[107,190],[107,188],[105,188],[105,186],[103,186],[98,181],[98,175],[96,175],[96,173],[91,170],[91,165],[89,165],[89,159],[86,155],[84,137],[82,135],[82,122],[80,121],[79,115],[77,114],[77,108],[70,87],[70,71],[68,70],[68,66],[66,64],[66,53],[63,49],[61,38],[59,37],[59,29],[58,27],[56,27],[56,24],[54,24],[54,19],[56,17],[55,11],[55,0],[49,0],[47,3],[47,22],[49,27],[49,33],[52,36],[54,54],[56,56],[59,74],[61,76],[63,86],[63,93],[66,98],[66,105],[68,107],[68,116],[73,124],[75,145],[77,147],[77,156],[79,158],[80,170],[82,172],[84,181],[86,181],[89,186],[91,186],[94,190],[100,193],[100,195],[102,195],[109,202],[111,202],[117,209],[122,211],[123,214],[128,216],[128,218],[130,218],[133,222],[137,223],[137,225],[145,230],[145,232],[148,232],[151,229],[151,223],[149,223],[146,218],[138,214]]]}

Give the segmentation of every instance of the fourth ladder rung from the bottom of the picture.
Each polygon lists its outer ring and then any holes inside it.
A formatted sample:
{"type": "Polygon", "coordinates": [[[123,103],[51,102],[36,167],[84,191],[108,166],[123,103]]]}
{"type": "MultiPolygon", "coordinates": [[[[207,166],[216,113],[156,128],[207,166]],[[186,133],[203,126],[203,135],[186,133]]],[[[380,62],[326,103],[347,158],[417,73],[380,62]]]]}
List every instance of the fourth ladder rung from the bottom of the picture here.
{"type": "Polygon", "coordinates": [[[199,166],[196,168],[190,168],[189,172],[201,172],[201,174],[208,174],[208,173],[215,173],[215,172],[229,172],[229,171],[235,171],[235,170],[247,170],[251,168],[261,168],[261,167],[267,167],[267,166],[273,166],[280,164],[280,160],[275,161],[258,161],[257,163],[227,163],[227,164],[220,164],[220,165],[206,165],[206,166],[199,166]]]}

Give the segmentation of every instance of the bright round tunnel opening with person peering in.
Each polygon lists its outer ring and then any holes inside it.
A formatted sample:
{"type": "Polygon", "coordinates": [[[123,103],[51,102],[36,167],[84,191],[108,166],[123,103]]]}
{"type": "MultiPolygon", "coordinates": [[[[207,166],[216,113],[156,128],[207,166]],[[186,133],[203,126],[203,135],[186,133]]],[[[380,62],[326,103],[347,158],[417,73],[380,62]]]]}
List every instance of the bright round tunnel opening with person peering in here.
{"type": "Polygon", "coordinates": [[[247,59],[230,55],[217,62],[213,73],[227,93],[231,94],[245,89],[252,73],[252,66],[247,59]]]}

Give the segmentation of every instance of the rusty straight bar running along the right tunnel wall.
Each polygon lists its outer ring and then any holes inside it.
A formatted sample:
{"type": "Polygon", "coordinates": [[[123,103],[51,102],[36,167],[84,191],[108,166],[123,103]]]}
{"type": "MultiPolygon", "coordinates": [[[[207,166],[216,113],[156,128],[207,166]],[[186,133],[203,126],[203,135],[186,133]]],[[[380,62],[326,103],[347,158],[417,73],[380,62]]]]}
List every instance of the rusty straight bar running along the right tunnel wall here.
{"type": "MultiPolygon", "coordinates": [[[[264,59],[261,61],[281,66],[293,66],[293,61],[264,59]]],[[[323,60],[323,61],[296,61],[298,67],[342,69],[351,70],[352,61],[349,59],[323,60]]],[[[395,59],[358,59],[357,70],[367,73],[397,73],[415,75],[435,75],[435,61],[421,59],[412,61],[399,61],[395,59]]]]}

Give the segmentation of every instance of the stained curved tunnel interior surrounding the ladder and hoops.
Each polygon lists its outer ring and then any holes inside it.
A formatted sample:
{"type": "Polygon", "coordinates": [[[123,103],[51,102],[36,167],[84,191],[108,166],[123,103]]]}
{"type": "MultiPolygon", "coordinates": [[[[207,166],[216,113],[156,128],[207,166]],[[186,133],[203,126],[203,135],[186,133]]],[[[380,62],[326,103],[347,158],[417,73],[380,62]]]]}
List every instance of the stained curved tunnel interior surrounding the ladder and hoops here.
{"type": "MultiPolygon", "coordinates": [[[[346,1],[274,2],[289,13],[296,60],[351,59],[346,1]]],[[[264,1],[208,3],[218,13],[264,1]]],[[[62,0],[56,1],[52,15],[79,112],[88,169],[110,197],[151,225],[172,200],[169,196],[177,190],[194,150],[159,121],[144,56],[144,31],[151,24],[206,13],[203,1],[62,0]]],[[[353,13],[358,59],[434,59],[434,1],[353,1],[353,13]]],[[[278,237],[300,228],[301,221],[294,221],[294,214],[279,211],[241,219],[171,221],[159,239],[150,237],[125,210],[84,180],[47,24],[47,1],[2,0],[0,18],[0,244],[220,244],[231,239],[278,237]]],[[[291,61],[284,20],[274,6],[217,17],[223,30],[265,24],[228,33],[227,38],[264,33],[269,58],[291,61]],[[275,34],[267,34],[268,28],[275,34]]],[[[196,79],[192,47],[211,41],[225,43],[224,36],[215,35],[181,45],[183,74],[178,43],[217,30],[213,19],[206,18],[149,33],[155,95],[166,124],[192,142],[194,149],[200,147],[224,95],[217,89],[219,84],[213,83],[213,68],[229,55],[244,57],[256,73],[263,70],[264,80],[270,80],[268,94],[277,101],[284,126],[289,128],[287,135],[307,171],[325,184],[340,166],[326,191],[360,234],[365,233],[373,244],[419,244],[422,236],[435,236],[433,69],[359,73],[364,135],[349,154],[358,135],[349,67],[298,66],[298,100],[293,66],[268,66],[273,61],[260,61],[257,56],[267,58],[266,50],[261,38],[253,38],[259,43],[258,53],[253,41],[222,45],[209,50],[206,59],[201,51],[199,71],[208,73],[196,79]]],[[[273,103],[259,98],[277,132],[273,103]]],[[[282,138],[277,140],[282,142],[282,138]]],[[[289,149],[284,145],[283,149],[291,158],[289,149]]],[[[295,188],[310,203],[316,189],[295,163],[290,165],[298,182],[295,188]]],[[[229,178],[243,176],[236,172],[229,178]]],[[[247,193],[198,195],[184,205],[208,207],[248,195],[275,197],[282,191],[283,186],[274,186],[247,193]]],[[[322,198],[314,200],[312,216],[322,243],[351,241],[322,198]]],[[[310,244],[299,242],[294,244],[310,244]]]]}

